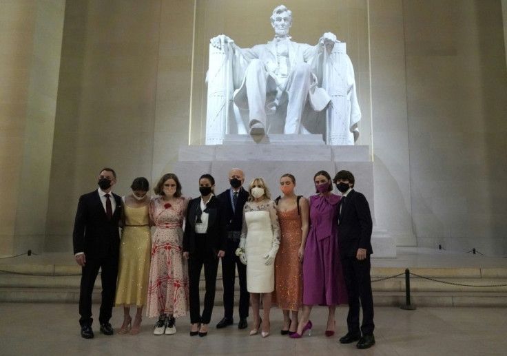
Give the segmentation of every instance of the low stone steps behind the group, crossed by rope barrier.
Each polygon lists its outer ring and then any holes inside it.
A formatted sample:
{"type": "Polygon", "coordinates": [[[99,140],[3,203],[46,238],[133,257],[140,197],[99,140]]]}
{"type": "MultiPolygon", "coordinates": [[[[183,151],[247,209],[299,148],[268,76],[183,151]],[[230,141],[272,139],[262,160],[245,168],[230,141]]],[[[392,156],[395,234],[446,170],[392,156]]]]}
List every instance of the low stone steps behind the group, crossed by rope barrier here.
{"type": "MultiPolygon", "coordinates": [[[[405,303],[405,269],[371,269],[375,304],[405,303]]],[[[412,268],[412,303],[420,306],[507,306],[507,268],[412,268]],[[431,278],[428,280],[427,278],[431,278]]],[[[74,264],[0,265],[0,302],[63,302],[79,300],[81,268],[74,264]]],[[[204,298],[204,277],[200,283],[204,298]]],[[[236,281],[236,300],[239,283],[236,281]]],[[[96,280],[93,300],[101,299],[101,280],[96,280]]],[[[222,304],[221,268],[216,283],[216,304],[222,304]]]]}

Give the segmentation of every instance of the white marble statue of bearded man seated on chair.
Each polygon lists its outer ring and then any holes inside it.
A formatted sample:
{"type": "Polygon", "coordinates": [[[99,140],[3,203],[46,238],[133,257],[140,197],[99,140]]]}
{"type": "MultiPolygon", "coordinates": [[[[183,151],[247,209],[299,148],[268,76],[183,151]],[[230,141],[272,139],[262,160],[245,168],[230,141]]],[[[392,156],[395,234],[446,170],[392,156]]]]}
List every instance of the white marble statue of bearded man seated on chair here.
{"type": "Polygon", "coordinates": [[[292,41],[292,13],[283,5],[271,25],[273,41],[253,48],[223,34],[211,39],[207,145],[230,133],[322,134],[329,145],[353,145],[361,111],[345,44],[331,32],[317,45],[292,41]]]}

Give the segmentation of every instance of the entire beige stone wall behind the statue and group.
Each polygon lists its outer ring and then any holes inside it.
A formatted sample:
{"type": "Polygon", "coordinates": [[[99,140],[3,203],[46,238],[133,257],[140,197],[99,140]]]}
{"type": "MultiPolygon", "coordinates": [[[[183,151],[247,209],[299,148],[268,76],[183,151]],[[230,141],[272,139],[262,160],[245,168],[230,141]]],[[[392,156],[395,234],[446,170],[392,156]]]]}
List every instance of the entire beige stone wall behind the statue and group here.
{"type": "MultiPolygon", "coordinates": [[[[116,169],[123,195],[133,178],[174,169],[180,145],[204,139],[200,119],[190,123],[205,90],[195,44],[214,29],[234,36],[273,7],[245,3],[248,19],[194,25],[214,4],[0,2],[1,254],[70,251],[77,200],[102,167],[116,169]]],[[[307,4],[285,2],[291,34],[311,43],[297,30],[315,23],[298,14],[307,4]]],[[[371,83],[360,91],[371,103],[362,145],[373,154],[378,227],[400,245],[506,254],[505,1],[315,4],[321,21],[340,19],[333,32],[353,45],[360,83],[371,83]]]]}

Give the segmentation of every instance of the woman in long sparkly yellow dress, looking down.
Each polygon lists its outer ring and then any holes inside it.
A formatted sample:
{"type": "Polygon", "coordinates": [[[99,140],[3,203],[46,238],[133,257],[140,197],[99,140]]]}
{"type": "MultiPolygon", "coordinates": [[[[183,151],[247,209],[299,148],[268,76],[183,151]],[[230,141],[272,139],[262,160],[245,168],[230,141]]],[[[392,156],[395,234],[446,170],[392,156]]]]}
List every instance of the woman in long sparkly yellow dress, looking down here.
{"type": "Polygon", "coordinates": [[[123,233],[121,234],[120,262],[118,265],[118,284],[115,304],[123,305],[123,325],[119,334],[139,333],[143,306],[147,300],[149,262],[152,238],[149,231],[149,191],[148,180],[144,177],[134,179],[132,194],[123,197],[123,233]],[[132,324],[130,306],[137,312],[132,324]]]}

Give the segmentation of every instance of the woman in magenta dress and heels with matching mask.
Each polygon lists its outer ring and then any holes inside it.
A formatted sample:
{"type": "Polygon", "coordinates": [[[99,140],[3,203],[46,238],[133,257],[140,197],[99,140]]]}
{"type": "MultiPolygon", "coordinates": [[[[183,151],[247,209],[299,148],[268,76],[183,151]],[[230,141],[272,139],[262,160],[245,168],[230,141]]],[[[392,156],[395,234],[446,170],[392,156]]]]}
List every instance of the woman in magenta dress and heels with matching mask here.
{"type": "Polygon", "coordinates": [[[315,304],[328,306],[326,336],[334,335],[336,305],[348,302],[338,251],[340,196],[333,194],[333,182],[327,171],[318,171],[313,181],[318,194],[309,199],[310,232],[303,259],[303,312],[298,331],[291,335],[293,338],[311,329],[309,318],[315,304]]]}

